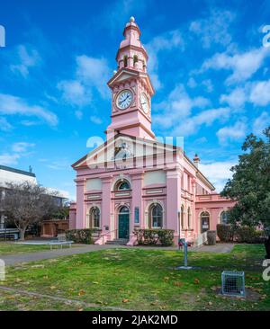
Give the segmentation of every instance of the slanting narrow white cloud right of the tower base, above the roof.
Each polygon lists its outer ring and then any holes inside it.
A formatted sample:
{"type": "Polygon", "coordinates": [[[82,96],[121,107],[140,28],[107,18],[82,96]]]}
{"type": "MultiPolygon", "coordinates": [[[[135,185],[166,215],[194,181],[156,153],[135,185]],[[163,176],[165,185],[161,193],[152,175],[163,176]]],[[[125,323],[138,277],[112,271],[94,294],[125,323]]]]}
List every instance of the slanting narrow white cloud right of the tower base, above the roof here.
{"type": "Polygon", "coordinates": [[[184,119],[179,125],[177,125],[172,134],[174,136],[193,135],[193,133],[201,129],[202,125],[209,127],[216,120],[228,120],[229,113],[230,110],[227,107],[202,111],[193,117],[184,119]]]}

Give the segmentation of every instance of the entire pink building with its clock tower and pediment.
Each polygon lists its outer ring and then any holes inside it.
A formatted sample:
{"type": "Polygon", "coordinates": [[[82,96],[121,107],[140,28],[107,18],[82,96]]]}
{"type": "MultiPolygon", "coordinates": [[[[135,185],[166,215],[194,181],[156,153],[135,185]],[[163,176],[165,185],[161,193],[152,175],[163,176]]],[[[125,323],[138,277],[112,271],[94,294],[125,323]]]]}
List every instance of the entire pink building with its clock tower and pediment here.
{"type": "Polygon", "coordinates": [[[148,54],[139,27],[130,18],[116,55],[117,71],[108,82],[112,91],[112,122],[106,141],[79,159],[76,203],[70,228],[98,227],[96,244],[125,239],[136,243],[134,228],[168,228],[195,241],[226,222],[234,202],[214,193],[214,186],[181,147],[157,141],[151,129],[148,54]]]}

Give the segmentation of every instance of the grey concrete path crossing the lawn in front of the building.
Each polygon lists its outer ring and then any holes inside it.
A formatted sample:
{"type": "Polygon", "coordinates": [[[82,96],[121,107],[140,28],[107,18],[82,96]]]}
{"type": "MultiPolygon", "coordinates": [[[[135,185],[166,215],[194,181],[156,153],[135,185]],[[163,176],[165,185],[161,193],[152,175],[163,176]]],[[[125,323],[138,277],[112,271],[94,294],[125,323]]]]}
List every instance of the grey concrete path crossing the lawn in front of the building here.
{"type": "MultiPolygon", "coordinates": [[[[233,248],[233,244],[218,244],[218,245],[202,245],[195,248],[189,248],[192,252],[208,252],[208,253],[229,253],[233,248]]],[[[84,245],[83,247],[76,246],[72,248],[53,249],[44,252],[10,254],[1,256],[5,265],[14,265],[20,262],[35,262],[43,259],[58,258],[60,256],[68,256],[78,253],[90,253],[98,250],[113,249],[113,248],[136,248],[145,250],[178,250],[178,247],[126,247],[122,245],[84,245]]]]}

